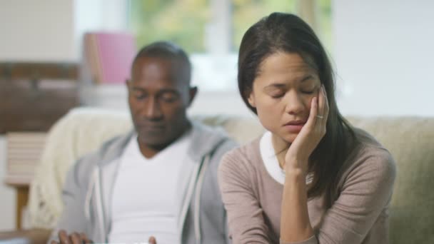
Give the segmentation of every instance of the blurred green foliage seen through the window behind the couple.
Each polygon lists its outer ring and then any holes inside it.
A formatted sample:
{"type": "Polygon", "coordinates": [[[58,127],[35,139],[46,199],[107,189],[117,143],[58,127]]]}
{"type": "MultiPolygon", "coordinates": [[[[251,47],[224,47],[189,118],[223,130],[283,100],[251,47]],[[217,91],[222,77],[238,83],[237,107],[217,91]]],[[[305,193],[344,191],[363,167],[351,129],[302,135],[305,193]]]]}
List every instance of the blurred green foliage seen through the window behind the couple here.
{"type": "MultiPolygon", "coordinates": [[[[210,0],[130,0],[128,14],[131,31],[138,46],[168,40],[182,46],[188,53],[206,52],[206,24],[211,21],[210,0]]],[[[300,0],[303,1],[303,0],[300,0]]],[[[318,0],[321,39],[328,51],[332,49],[331,0],[318,0]]],[[[232,0],[233,51],[238,51],[243,34],[249,26],[273,11],[293,13],[296,0],[232,0]]]]}

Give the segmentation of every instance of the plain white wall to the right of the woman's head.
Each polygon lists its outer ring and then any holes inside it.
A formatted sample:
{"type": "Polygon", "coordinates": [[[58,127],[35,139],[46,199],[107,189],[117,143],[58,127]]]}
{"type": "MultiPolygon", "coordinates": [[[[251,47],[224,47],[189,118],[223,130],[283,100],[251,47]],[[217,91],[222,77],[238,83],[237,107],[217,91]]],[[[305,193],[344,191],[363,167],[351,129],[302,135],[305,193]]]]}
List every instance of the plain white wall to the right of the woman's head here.
{"type": "Polygon", "coordinates": [[[334,0],[344,114],[434,116],[434,1],[334,0]]]}

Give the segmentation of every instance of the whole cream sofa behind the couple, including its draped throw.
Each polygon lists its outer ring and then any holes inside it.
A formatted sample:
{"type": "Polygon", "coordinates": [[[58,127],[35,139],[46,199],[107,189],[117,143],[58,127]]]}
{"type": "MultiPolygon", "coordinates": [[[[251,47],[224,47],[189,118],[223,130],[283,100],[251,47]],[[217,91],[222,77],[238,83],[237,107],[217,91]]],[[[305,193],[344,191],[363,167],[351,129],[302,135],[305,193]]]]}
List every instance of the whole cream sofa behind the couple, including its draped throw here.
{"type": "MultiPolygon", "coordinates": [[[[193,116],[246,143],[263,133],[254,116],[193,116]]],[[[398,176],[390,207],[390,243],[434,243],[434,118],[347,116],[392,153],[398,176]]],[[[77,158],[107,139],[131,129],[128,113],[101,108],[75,108],[48,134],[29,195],[31,230],[0,233],[0,243],[44,243],[59,218],[66,171],[77,158]],[[40,233],[40,235],[38,235],[40,233]]]]}

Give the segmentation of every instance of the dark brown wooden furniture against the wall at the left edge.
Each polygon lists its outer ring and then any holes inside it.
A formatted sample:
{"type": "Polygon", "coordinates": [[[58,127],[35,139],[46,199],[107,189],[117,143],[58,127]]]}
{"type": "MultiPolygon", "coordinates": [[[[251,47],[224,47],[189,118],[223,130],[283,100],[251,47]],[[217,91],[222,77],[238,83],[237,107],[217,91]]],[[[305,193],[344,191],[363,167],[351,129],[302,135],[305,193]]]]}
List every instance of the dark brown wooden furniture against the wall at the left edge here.
{"type": "Polygon", "coordinates": [[[77,63],[0,62],[0,133],[47,131],[79,105],[77,63]]]}

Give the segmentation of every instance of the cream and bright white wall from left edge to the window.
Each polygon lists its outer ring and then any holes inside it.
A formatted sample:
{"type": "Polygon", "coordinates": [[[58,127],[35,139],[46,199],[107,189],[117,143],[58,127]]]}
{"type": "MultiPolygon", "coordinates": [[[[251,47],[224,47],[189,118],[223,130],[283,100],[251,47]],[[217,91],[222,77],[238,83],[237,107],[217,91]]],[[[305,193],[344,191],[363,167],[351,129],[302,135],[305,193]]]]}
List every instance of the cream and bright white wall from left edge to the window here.
{"type": "Polygon", "coordinates": [[[0,61],[78,61],[86,31],[126,27],[126,0],[1,0],[0,61]]]}

